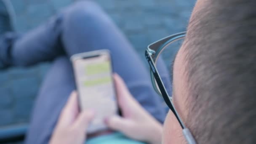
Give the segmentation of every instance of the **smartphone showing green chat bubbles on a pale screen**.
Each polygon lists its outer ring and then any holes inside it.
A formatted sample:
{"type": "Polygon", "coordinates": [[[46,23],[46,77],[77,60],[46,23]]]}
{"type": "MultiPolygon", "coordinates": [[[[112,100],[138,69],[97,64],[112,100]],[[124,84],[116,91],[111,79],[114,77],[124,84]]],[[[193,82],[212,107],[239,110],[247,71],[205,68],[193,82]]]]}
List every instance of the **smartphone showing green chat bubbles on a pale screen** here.
{"type": "Polygon", "coordinates": [[[117,97],[112,77],[112,62],[108,50],[78,53],[71,58],[80,111],[96,113],[87,133],[104,131],[106,117],[117,115],[117,97]]]}

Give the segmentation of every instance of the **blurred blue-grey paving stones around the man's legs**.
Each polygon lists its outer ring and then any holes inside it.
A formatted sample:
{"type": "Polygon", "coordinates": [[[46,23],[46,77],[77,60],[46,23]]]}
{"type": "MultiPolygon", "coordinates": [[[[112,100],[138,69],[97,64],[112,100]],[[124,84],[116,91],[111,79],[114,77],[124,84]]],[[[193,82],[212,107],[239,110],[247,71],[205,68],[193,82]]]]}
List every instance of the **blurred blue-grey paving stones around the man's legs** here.
{"type": "MultiPolygon", "coordinates": [[[[11,30],[24,33],[77,0],[5,0],[11,30]]],[[[94,0],[125,33],[144,61],[147,45],[186,30],[195,0],[94,0]]],[[[0,5],[0,14],[3,14],[0,5]]],[[[0,24],[3,24],[0,21],[0,24]]],[[[5,29],[5,27],[1,27],[5,29]]],[[[8,28],[6,28],[8,29],[8,28]]],[[[24,133],[40,83],[51,63],[0,70],[0,139],[24,133]]]]}

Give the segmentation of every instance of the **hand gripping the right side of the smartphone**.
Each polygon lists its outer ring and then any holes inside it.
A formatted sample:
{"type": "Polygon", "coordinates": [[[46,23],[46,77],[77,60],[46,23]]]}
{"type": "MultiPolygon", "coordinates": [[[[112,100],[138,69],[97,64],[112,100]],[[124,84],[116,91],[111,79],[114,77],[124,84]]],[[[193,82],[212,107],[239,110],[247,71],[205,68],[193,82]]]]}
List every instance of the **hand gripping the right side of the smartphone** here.
{"type": "MultiPolygon", "coordinates": [[[[145,141],[150,144],[160,144],[162,125],[144,110],[131,96],[122,78],[115,74],[117,99],[123,117],[113,116],[106,120],[109,128],[120,131],[131,139],[145,141]]],[[[149,98],[150,99],[150,98],[149,98]]]]}

